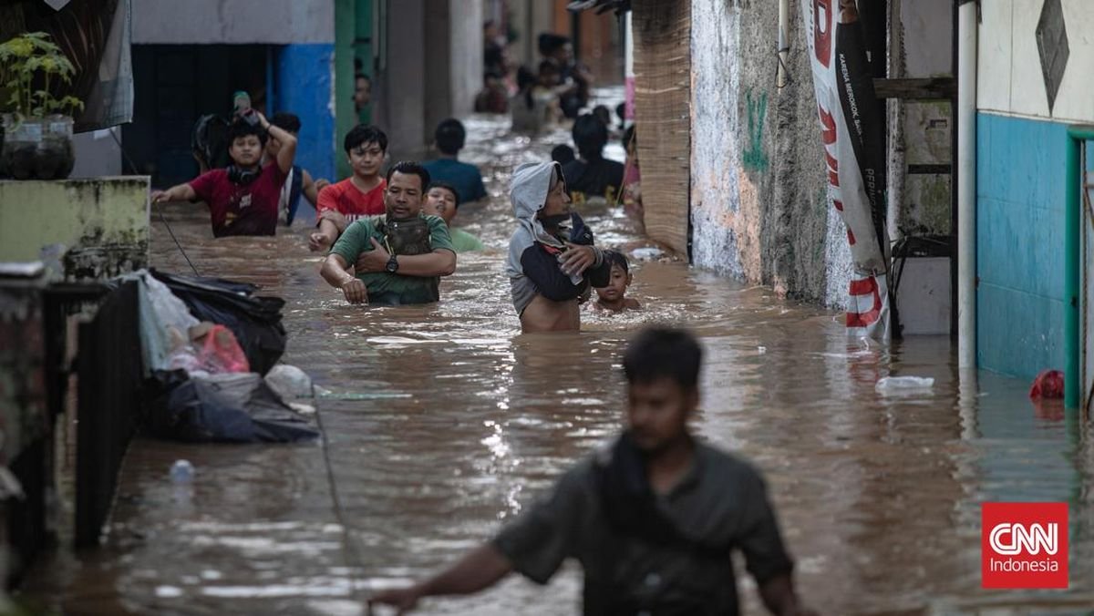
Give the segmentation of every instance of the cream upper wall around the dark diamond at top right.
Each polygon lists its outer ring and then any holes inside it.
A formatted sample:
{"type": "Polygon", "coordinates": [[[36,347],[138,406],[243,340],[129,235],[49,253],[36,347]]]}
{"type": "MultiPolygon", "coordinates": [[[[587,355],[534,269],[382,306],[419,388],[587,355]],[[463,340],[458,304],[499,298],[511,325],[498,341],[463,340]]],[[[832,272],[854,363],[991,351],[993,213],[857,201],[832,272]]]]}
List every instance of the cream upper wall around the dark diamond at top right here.
{"type": "Polygon", "coordinates": [[[980,4],[984,21],[978,36],[977,106],[999,114],[1094,121],[1094,2],[1062,0],[1070,56],[1051,113],[1037,54],[1037,20],[1043,5],[1044,0],[980,4]]]}

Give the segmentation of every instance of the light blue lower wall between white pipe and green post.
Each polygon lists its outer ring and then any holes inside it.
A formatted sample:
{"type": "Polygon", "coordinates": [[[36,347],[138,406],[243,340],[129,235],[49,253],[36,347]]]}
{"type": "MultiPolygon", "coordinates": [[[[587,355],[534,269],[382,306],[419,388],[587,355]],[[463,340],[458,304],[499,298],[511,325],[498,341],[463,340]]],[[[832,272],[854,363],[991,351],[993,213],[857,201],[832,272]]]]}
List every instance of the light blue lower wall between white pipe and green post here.
{"type": "Polygon", "coordinates": [[[1063,369],[1067,125],[977,116],[977,359],[1029,379],[1063,369]]]}

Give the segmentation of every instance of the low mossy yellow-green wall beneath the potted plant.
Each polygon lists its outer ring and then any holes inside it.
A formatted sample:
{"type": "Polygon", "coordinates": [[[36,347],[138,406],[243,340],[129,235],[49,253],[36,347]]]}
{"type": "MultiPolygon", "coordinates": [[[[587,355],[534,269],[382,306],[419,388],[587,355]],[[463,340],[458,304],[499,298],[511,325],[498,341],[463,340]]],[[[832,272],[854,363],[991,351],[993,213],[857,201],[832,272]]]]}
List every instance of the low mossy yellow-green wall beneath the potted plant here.
{"type": "MultiPolygon", "coordinates": [[[[148,266],[149,178],[0,182],[0,261],[31,261],[61,244],[68,278],[148,266]]],[[[60,256],[60,255],[57,255],[60,256]]]]}

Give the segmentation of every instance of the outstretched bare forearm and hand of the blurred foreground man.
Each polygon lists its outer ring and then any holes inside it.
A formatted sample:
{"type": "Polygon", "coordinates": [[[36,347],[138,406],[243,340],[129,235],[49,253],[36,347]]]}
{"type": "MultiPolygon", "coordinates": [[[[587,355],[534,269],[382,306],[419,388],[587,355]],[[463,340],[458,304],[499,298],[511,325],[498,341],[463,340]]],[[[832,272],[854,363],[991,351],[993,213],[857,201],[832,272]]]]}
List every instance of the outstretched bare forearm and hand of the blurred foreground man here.
{"type": "Polygon", "coordinates": [[[432,578],[405,589],[382,591],[369,598],[405,614],[427,596],[470,594],[488,589],[513,570],[513,566],[496,547],[484,544],[432,578]]]}

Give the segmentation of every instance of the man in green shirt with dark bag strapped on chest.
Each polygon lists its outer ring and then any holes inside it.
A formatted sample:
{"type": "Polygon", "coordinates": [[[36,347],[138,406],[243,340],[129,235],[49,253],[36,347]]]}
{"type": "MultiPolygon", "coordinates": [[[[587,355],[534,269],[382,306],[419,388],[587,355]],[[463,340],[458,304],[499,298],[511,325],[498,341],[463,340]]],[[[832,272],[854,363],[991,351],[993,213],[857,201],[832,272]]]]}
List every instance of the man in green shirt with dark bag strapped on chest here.
{"type": "Polygon", "coordinates": [[[387,171],[387,214],[346,228],[323,263],[323,279],[352,304],[424,304],[440,299],[440,277],[456,270],[444,220],[422,212],[429,172],[414,162],[387,171]],[[352,265],[353,274],[349,272],[352,265]]]}

